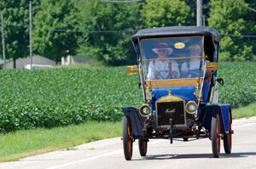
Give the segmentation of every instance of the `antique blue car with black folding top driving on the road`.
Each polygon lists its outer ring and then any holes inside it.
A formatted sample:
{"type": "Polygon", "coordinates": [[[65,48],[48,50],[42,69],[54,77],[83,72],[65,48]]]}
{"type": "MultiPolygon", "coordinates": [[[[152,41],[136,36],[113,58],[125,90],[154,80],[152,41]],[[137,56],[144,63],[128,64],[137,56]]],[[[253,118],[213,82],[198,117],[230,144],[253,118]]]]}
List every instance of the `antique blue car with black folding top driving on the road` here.
{"type": "MultiPolygon", "coordinates": [[[[218,31],[206,26],[143,29],[132,37],[137,54],[140,108],[123,107],[123,145],[131,160],[136,139],[145,156],[148,140],[166,138],[212,140],[212,155],[219,156],[220,140],[231,152],[230,104],[218,103],[218,31]]],[[[190,141],[189,140],[189,141],[190,141]]]]}

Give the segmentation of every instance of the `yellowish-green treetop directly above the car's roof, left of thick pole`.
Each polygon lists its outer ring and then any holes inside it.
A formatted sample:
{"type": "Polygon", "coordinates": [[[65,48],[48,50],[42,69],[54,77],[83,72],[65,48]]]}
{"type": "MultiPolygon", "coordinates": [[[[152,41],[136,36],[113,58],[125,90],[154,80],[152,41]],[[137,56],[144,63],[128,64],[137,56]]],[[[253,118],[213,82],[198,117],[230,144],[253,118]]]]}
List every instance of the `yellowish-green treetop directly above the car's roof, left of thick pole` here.
{"type": "MultiPolygon", "coordinates": [[[[147,0],[142,12],[145,25],[148,27],[163,27],[171,25],[189,25],[191,9],[180,0],[147,0]]],[[[193,22],[193,21],[192,21],[193,22]]]]}

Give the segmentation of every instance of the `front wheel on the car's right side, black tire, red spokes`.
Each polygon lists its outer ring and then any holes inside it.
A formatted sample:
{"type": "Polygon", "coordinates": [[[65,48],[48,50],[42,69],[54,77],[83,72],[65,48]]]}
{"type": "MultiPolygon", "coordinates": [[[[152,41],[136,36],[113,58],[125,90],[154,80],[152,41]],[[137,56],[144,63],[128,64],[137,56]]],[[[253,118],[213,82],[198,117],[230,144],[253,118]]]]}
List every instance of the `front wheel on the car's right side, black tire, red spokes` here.
{"type": "Polygon", "coordinates": [[[215,117],[212,117],[211,138],[212,138],[212,155],[213,157],[218,158],[219,150],[220,150],[220,122],[219,122],[218,115],[216,115],[215,117]]]}

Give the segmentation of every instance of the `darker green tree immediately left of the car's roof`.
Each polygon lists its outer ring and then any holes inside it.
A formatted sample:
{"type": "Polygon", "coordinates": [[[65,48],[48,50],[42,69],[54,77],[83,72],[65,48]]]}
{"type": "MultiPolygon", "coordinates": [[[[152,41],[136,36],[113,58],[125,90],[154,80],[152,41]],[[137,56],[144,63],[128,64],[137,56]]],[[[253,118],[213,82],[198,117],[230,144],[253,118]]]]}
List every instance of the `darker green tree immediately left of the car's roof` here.
{"type": "Polygon", "coordinates": [[[108,65],[134,63],[136,57],[131,45],[134,32],[127,28],[141,26],[139,4],[80,0],[78,8],[79,31],[84,32],[79,39],[79,53],[108,65]]]}

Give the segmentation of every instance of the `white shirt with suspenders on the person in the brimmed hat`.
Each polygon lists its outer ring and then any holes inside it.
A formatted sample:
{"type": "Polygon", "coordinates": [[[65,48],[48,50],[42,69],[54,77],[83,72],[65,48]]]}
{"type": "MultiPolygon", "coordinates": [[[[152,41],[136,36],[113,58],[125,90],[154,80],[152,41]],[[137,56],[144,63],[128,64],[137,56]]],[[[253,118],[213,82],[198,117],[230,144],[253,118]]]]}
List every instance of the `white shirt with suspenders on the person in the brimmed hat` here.
{"type": "Polygon", "coordinates": [[[151,60],[148,65],[148,80],[178,78],[180,76],[177,62],[174,60],[151,60]],[[171,71],[176,71],[177,76],[172,76],[171,71]]]}

